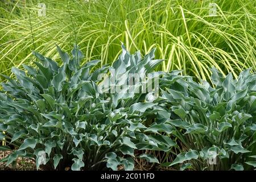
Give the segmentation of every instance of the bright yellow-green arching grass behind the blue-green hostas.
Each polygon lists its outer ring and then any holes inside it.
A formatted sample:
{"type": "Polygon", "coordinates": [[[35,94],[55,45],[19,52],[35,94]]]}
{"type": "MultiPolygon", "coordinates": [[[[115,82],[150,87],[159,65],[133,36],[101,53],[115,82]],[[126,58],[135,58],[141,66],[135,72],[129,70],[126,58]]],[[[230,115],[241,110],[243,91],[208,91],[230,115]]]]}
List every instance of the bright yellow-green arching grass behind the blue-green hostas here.
{"type": "Polygon", "coordinates": [[[213,15],[212,1],[44,2],[46,16],[38,16],[37,1],[1,2],[1,73],[30,63],[34,45],[57,59],[55,43],[71,51],[73,42],[84,62],[100,59],[101,66],[117,59],[123,42],[142,55],[156,47],[165,60],[159,70],[180,69],[199,80],[210,81],[213,66],[235,78],[243,69],[255,71],[255,0],[216,0],[213,15]]]}

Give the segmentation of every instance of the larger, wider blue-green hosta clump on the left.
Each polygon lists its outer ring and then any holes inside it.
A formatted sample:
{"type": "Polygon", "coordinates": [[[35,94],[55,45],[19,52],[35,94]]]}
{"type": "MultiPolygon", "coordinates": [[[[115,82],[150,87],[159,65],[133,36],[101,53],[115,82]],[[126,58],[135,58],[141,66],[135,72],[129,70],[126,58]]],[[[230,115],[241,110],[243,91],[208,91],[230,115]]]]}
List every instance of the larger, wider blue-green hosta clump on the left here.
{"type": "Polygon", "coordinates": [[[116,170],[122,166],[132,170],[134,150],[141,150],[138,158],[158,163],[144,151],[168,151],[175,146],[166,132],[158,133],[164,127],[168,134],[171,125],[152,122],[167,111],[147,102],[148,93],[98,89],[106,81],[100,74],[110,74],[110,68],[117,72],[114,85],[118,85],[124,81],[120,77],[124,73],[149,73],[162,61],[154,60],[154,49],[144,58],[139,52],[130,55],[125,47],[122,49],[113,67],[96,69],[99,60],[80,65],[83,55],[77,46],[72,57],[57,46],[61,65],[34,52],[36,67],[23,65],[24,70],[12,69],[13,78],[4,76],[7,82],[2,83],[0,93],[0,131],[5,133],[1,132],[0,140],[5,138],[7,146],[1,150],[13,152],[1,161],[9,165],[19,157],[29,157],[36,160],[37,168],[48,170],[116,170]]]}

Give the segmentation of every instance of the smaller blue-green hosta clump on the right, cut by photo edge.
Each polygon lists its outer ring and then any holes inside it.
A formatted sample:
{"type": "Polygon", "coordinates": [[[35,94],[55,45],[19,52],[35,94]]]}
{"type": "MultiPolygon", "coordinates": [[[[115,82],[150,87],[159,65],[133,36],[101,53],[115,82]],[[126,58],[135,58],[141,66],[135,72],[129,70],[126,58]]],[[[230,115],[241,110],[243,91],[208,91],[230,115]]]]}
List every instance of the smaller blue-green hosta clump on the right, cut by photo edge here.
{"type": "MultiPolygon", "coordinates": [[[[212,69],[212,82],[187,78],[162,85],[165,107],[180,152],[167,166],[198,170],[243,170],[255,167],[256,75],[250,69],[237,80],[212,69]]],[[[163,80],[168,80],[164,78],[163,80]]]]}

